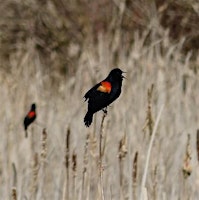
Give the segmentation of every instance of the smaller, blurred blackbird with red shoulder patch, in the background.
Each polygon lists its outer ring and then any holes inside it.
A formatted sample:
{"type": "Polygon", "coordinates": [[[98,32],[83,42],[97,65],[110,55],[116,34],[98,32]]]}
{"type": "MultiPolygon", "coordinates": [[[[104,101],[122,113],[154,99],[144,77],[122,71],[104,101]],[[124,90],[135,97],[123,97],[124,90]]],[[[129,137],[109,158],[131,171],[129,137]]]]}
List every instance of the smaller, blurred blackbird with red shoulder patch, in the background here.
{"type": "Polygon", "coordinates": [[[36,105],[33,103],[31,105],[31,109],[24,118],[24,129],[25,129],[25,136],[28,137],[28,126],[36,119],[36,105]]]}

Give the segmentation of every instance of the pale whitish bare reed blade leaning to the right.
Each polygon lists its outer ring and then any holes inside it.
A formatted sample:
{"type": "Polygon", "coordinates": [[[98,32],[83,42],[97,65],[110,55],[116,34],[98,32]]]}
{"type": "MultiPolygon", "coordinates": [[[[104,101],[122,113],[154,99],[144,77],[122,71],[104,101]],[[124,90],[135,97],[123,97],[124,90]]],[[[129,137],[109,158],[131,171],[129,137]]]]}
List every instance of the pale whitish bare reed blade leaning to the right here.
{"type": "Polygon", "coordinates": [[[143,174],[142,182],[141,182],[140,200],[143,200],[143,198],[145,198],[145,192],[147,192],[145,184],[146,184],[147,171],[148,171],[148,167],[149,167],[149,159],[150,159],[150,155],[151,155],[153,141],[155,139],[155,134],[157,132],[158,124],[159,124],[160,117],[161,117],[163,109],[164,109],[164,105],[162,105],[161,108],[160,108],[160,111],[158,113],[157,119],[155,121],[154,129],[153,129],[153,132],[152,132],[152,135],[151,135],[151,139],[150,139],[150,143],[149,143],[149,148],[148,148],[148,151],[147,151],[147,157],[146,157],[146,164],[145,164],[145,168],[144,168],[144,174],[143,174]]]}

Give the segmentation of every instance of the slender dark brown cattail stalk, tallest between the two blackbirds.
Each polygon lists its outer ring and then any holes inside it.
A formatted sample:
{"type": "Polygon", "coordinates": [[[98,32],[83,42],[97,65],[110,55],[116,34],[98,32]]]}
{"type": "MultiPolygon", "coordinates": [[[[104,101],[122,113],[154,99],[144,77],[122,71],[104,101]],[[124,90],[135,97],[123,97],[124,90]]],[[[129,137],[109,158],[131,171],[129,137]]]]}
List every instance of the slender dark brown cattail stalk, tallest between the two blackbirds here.
{"type": "Polygon", "coordinates": [[[63,191],[63,200],[69,200],[69,166],[70,166],[70,128],[67,129],[66,133],[66,150],[65,150],[65,167],[66,167],[66,179],[65,187],[63,191]]]}

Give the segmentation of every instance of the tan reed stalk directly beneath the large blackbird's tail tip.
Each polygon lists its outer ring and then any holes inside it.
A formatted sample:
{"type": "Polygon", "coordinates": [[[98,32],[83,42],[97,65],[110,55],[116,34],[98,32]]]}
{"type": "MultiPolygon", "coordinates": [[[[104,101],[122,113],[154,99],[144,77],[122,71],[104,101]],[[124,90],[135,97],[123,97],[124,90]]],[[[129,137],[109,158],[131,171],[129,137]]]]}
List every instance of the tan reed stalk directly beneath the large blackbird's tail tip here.
{"type": "Polygon", "coordinates": [[[85,198],[85,182],[86,182],[86,174],[87,174],[87,166],[88,166],[88,144],[89,144],[89,134],[86,135],[86,143],[85,143],[85,146],[84,146],[84,160],[83,160],[83,163],[84,163],[84,167],[83,167],[83,172],[82,172],[82,199],[86,199],[85,198]]]}

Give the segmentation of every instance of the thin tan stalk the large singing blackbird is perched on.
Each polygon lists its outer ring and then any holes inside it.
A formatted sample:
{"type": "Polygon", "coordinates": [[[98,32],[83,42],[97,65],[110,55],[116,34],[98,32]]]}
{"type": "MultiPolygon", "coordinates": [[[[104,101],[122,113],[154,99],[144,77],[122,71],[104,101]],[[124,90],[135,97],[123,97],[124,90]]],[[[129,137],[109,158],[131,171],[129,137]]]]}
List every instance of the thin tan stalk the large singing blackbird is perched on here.
{"type": "MultiPolygon", "coordinates": [[[[103,188],[103,166],[102,166],[102,158],[104,155],[104,148],[102,147],[102,139],[103,139],[103,132],[104,132],[104,119],[106,117],[106,113],[103,113],[102,122],[100,126],[100,140],[99,140],[99,178],[100,178],[100,192],[101,192],[101,199],[104,200],[104,188],[103,188]]],[[[105,144],[104,144],[105,145],[105,144]]]]}

